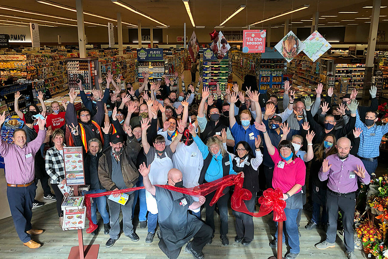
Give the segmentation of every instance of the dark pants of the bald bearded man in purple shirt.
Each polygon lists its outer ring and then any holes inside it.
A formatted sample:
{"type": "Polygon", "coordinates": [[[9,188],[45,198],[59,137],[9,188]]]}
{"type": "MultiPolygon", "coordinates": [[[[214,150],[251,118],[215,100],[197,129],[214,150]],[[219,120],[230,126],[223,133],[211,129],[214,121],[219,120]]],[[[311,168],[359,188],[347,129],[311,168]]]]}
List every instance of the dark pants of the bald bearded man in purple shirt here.
{"type": "Polygon", "coordinates": [[[337,235],[337,219],[338,208],[343,211],[342,224],[344,227],[344,238],[346,252],[354,250],[354,211],[356,207],[355,192],[339,196],[332,193],[329,189],[326,191],[326,210],[329,217],[329,224],[327,224],[326,241],[328,243],[336,242],[337,235]]]}

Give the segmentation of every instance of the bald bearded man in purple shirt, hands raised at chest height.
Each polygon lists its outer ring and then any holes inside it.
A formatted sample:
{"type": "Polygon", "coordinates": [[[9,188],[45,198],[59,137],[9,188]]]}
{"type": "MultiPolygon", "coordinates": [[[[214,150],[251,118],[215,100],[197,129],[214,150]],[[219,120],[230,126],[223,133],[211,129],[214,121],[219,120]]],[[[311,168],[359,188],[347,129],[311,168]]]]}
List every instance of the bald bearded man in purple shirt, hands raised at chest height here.
{"type": "Polygon", "coordinates": [[[326,210],[329,224],[326,231],[326,240],[315,245],[317,249],[335,247],[338,208],[343,211],[342,223],[344,226],[344,242],[348,258],[356,258],[354,254],[353,224],[356,205],[357,181],[369,184],[371,177],[362,161],[349,154],[351,147],[348,138],[337,141],[337,154],[324,159],[318,173],[321,181],[328,180],[326,192],[326,210]]]}

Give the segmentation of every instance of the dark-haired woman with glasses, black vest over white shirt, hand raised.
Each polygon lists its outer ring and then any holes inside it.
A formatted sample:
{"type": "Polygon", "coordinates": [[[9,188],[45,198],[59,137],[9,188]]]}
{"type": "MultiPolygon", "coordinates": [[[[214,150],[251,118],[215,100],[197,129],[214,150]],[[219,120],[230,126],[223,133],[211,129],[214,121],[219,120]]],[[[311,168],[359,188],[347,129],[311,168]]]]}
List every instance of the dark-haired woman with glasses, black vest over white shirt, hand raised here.
{"type": "MultiPolygon", "coordinates": [[[[263,161],[263,155],[260,152],[260,137],[255,138],[255,155],[251,147],[245,141],[240,141],[236,145],[236,158],[232,160],[233,170],[236,173],[244,172],[244,183],[242,188],[248,189],[252,193],[251,200],[244,201],[250,212],[255,209],[256,193],[259,191],[258,167],[263,161]]],[[[249,245],[253,240],[253,218],[251,215],[232,210],[236,217],[236,237],[234,241],[242,245],[249,245]]]]}

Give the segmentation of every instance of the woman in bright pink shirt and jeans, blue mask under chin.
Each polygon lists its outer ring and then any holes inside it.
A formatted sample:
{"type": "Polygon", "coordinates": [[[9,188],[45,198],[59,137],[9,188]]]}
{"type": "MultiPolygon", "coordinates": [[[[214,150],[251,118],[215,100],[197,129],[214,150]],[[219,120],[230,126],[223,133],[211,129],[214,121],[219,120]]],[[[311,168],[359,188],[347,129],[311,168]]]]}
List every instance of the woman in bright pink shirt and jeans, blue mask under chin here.
{"type": "MultiPolygon", "coordinates": [[[[284,233],[287,233],[290,252],[285,258],[294,259],[300,252],[296,217],[298,211],[303,208],[301,189],[305,184],[306,165],[302,159],[296,156],[294,146],[290,141],[282,140],[276,149],[268,136],[265,124],[262,122],[261,125],[256,125],[256,128],[263,132],[268,154],[275,163],[272,186],[283,191],[282,200],[286,201],[284,213],[287,220],[284,221],[286,228],[283,231],[282,242],[285,243],[284,233]]],[[[270,247],[277,247],[277,239],[276,231],[275,239],[270,243],[270,247]]]]}

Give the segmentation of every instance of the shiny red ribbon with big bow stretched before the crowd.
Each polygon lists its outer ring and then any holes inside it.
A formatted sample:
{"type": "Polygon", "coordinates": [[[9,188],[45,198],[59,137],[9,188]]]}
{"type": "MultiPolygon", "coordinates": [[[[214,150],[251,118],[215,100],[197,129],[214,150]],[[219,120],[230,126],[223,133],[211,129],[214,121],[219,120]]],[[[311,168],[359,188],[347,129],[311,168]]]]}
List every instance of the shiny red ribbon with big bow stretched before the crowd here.
{"type": "MultiPolygon", "coordinates": [[[[180,188],[169,185],[156,185],[161,188],[165,188],[171,191],[176,191],[178,193],[183,193],[191,196],[206,196],[210,193],[216,191],[213,199],[210,202],[210,205],[213,205],[217,202],[217,200],[223,195],[223,190],[228,187],[234,185],[234,192],[232,194],[231,206],[232,209],[237,212],[243,212],[249,214],[253,217],[263,217],[264,215],[269,214],[272,210],[274,211],[274,221],[286,221],[286,214],[284,213],[284,208],[286,208],[286,201],[281,200],[283,198],[283,192],[281,189],[267,189],[263,192],[263,196],[258,199],[258,202],[261,204],[259,212],[249,212],[243,200],[251,200],[252,193],[242,188],[242,184],[244,182],[244,178],[241,175],[227,175],[220,179],[217,179],[213,182],[208,182],[206,184],[201,184],[199,186],[191,187],[191,188],[180,188]]],[[[92,222],[91,210],[90,210],[90,198],[96,198],[100,196],[110,195],[110,194],[118,194],[118,193],[127,193],[132,191],[137,191],[140,189],[144,189],[144,186],[134,187],[128,189],[122,189],[117,191],[109,191],[104,193],[93,193],[85,195],[85,205],[86,205],[86,217],[89,220],[89,228],[86,229],[87,233],[92,233],[95,229],[97,229],[97,225],[92,222]]]]}

